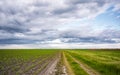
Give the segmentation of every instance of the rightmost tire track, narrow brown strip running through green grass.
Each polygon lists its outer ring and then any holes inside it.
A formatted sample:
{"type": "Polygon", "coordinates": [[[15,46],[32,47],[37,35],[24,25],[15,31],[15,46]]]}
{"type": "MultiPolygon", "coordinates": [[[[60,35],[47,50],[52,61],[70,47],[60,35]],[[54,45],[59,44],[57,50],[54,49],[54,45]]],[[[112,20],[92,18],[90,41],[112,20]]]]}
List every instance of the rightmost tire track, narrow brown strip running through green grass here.
{"type": "Polygon", "coordinates": [[[100,75],[97,71],[95,71],[94,69],[92,69],[90,66],[78,61],[77,59],[75,59],[73,56],[71,56],[70,54],[68,54],[76,63],[78,63],[80,65],[80,67],[87,72],[89,75],[100,75]]]}

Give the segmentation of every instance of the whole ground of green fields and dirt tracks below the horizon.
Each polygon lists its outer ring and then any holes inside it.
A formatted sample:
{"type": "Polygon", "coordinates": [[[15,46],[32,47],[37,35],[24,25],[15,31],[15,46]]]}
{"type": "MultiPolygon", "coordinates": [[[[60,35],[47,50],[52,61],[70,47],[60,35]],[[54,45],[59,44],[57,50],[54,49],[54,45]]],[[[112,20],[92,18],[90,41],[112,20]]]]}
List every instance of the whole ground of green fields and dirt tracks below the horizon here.
{"type": "Polygon", "coordinates": [[[0,50],[0,75],[120,75],[120,50],[0,50]]]}

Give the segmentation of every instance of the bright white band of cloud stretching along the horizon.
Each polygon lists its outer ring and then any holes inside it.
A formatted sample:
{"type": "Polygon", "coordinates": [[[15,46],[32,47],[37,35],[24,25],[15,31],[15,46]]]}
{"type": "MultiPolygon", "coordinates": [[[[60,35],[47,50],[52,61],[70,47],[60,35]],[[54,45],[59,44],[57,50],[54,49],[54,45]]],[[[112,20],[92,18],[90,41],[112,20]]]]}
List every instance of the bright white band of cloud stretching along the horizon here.
{"type": "Polygon", "coordinates": [[[22,45],[16,45],[16,44],[11,44],[11,45],[0,45],[1,49],[42,49],[42,48],[55,48],[55,49],[119,49],[120,48],[120,43],[118,44],[22,44],[22,45]]]}

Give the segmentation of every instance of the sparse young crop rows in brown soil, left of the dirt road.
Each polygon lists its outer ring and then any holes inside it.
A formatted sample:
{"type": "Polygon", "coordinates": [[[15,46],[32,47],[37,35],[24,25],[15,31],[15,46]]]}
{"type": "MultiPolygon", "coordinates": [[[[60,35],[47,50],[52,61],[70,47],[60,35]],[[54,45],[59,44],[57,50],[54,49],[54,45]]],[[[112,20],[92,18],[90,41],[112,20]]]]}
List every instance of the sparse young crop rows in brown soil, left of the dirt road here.
{"type": "Polygon", "coordinates": [[[0,50],[0,75],[38,75],[57,56],[56,50],[0,50]]]}

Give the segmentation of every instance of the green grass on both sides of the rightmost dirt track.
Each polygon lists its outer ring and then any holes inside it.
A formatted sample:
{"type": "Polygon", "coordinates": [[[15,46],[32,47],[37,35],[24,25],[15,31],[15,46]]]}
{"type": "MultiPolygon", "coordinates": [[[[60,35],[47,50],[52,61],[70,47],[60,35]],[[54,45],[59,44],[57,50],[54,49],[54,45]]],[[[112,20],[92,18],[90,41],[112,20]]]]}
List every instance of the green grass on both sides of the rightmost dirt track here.
{"type": "Polygon", "coordinates": [[[74,75],[92,75],[75,60],[94,70],[94,75],[120,75],[119,50],[66,50],[64,54],[74,75]]]}

